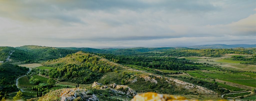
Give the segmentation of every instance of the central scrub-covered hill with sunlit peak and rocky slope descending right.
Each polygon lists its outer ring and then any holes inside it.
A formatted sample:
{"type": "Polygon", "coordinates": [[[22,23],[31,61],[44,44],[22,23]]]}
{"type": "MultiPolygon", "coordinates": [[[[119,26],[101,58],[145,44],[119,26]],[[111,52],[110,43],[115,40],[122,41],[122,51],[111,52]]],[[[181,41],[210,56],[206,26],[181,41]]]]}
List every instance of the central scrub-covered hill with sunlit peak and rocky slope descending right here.
{"type": "MultiPolygon", "coordinates": [[[[165,77],[164,74],[155,74],[147,70],[125,67],[103,57],[104,56],[100,57],[93,54],[77,52],[63,58],[44,62],[44,66],[54,68],[50,69],[48,72],[40,72],[40,74],[45,74],[58,81],[71,83],[91,84],[94,81],[98,81],[102,84],[116,83],[128,85],[136,92],[195,94],[194,91],[186,89],[185,86],[187,84],[178,84],[182,81],[170,81],[171,78],[165,77]]],[[[208,85],[210,85],[210,90],[218,88],[218,86],[210,83],[208,85]]],[[[201,94],[206,93],[199,89],[198,92],[201,94]]]]}

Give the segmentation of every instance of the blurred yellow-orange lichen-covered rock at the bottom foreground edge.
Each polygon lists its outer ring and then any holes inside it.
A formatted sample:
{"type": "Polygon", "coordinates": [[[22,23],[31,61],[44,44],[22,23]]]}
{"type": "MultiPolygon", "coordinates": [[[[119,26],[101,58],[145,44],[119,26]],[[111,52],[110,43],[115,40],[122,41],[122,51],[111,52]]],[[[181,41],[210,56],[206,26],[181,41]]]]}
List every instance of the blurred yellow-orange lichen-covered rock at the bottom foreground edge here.
{"type": "MultiPolygon", "coordinates": [[[[172,96],[166,94],[157,94],[153,92],[148,92],[133,97],[131,101],[188,101],[185,97],[182,96],[172,96]]],[[[197,101],[197,100],[190,100],[197,101]]]]}

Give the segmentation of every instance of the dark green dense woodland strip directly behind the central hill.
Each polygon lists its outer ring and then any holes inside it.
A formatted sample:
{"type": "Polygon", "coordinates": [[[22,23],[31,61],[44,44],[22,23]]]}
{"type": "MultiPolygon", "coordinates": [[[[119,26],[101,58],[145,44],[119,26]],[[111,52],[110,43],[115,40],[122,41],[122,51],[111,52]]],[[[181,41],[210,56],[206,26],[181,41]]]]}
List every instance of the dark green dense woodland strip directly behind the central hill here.
{"type": "Polygon", "coordinates": [[[105,54],[105,58],[121,64],[132,64],[143,67],[165,69],[165,70],[194,70],[196,66],[186,66],[185,64],[194,64],[184,58],[173,57],[145,57],[145,56],[125,56],[105,54]]]}

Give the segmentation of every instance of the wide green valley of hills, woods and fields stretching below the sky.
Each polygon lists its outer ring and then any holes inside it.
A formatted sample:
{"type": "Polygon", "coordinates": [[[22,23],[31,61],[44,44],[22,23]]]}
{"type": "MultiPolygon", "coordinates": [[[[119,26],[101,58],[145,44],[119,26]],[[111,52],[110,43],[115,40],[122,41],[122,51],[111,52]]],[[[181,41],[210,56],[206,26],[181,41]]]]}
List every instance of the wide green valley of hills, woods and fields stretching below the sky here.
{"type": "Polygon", "coordinates": [[[3,58],[13,52],[11,61],[0,63],[1,98],[12,99],[19,90],[24,100],[31,101],[51,98],[51,93],[65,90],[82,90],[86,96],[99,100],[131,100],[135,92],[198,100],[255,96],[255,48],[93,49],[28,45],[0,49],[3,58]],[[15,75],[8,75],[11,72],[15,75]],[[98,86],[92,87],[95,82],[98,86]],[[113,84],[121,88],[111,88],[113,84]]]}

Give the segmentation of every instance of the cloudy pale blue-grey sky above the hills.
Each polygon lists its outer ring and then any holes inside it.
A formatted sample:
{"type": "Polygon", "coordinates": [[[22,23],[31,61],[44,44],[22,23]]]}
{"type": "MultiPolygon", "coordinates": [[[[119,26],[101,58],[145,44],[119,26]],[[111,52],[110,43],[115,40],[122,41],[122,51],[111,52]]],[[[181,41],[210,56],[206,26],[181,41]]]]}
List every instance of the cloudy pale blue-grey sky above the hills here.
{"type": "Polygon", "coordinates": [[[0,0],[0,46],[256,44],[255,0],[0,0]]]}

